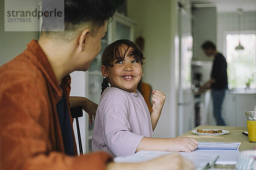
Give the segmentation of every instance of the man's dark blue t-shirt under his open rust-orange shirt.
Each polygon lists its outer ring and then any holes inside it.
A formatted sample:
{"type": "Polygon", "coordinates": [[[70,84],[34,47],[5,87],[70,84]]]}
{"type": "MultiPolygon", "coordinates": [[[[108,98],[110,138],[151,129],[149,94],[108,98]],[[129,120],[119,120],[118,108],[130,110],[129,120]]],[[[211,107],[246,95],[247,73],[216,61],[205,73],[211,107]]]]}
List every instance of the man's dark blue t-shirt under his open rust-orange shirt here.
{"type": "Polygon", "coordinates": [[[65,153],[69,156],[74,156],[73,131],[64,92],[61,100],[57,103],[56,108],[58,112],[58,119],[61,127],[65,153]]]}

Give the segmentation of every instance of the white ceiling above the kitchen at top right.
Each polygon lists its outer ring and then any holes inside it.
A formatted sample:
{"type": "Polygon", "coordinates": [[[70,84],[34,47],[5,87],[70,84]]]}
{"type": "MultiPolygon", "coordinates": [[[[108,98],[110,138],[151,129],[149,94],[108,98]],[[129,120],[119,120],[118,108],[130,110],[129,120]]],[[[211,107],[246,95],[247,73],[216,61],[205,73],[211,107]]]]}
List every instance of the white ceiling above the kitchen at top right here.
{"type": "Polygon", "coordinates": [[[242,8],[243,11],[256,11],[256,0],[192,0],[192,4],[213,3],[218,12],[237,11],[242,8]]]}

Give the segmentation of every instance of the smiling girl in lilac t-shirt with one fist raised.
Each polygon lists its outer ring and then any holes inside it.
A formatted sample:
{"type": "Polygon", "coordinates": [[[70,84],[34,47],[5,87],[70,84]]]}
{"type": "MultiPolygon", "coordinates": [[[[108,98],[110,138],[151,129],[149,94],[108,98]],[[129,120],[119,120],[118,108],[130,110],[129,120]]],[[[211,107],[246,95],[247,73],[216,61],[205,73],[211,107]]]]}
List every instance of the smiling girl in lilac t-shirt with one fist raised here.
{"type": "Polygon", "coordinates": [[[188,137],[153,138],[165,95],[152,92],[152,112],[137,90],[143,77],[143,53],[129,40],[117,40],[102,54],[102,96],[93,127],[93,151],[128,156],[140,150],[190,152],[198,142],[188,137]],[[110,85],[110,87],[109,87],[110,85]]]}

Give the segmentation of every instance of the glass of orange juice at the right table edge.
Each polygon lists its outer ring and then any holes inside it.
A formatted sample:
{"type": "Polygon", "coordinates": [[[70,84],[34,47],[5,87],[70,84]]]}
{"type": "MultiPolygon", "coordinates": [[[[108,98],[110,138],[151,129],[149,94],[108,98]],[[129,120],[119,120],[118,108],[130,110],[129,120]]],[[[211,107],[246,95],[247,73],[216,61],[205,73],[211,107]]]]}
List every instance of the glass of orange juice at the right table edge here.
{"type": "Polygon", "coordinates": [[[256,111],[246,111],[249,142],[256,143],[256,111]]]}

